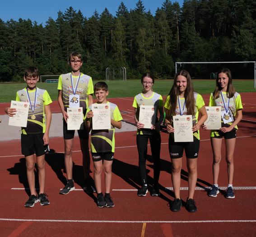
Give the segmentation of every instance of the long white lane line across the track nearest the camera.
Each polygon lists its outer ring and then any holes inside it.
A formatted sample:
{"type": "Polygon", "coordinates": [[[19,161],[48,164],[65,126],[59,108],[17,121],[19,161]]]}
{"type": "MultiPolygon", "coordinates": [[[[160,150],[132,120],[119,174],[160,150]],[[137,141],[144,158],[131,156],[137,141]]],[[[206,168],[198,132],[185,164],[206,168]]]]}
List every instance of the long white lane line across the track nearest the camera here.
{"type": "Polygon", "coordinates": [[[49,220],[49,219],[7,219],[5,221],[32,221],[32,222],[80,222],[80,223],[216,223],[216,222],[256,222],[256,220],[49,220]]]}

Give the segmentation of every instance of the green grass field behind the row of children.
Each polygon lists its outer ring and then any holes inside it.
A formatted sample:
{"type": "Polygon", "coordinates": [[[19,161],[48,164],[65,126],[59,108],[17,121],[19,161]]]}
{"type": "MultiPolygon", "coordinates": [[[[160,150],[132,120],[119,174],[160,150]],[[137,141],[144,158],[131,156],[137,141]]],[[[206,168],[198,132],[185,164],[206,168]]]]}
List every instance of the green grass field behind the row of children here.
{"type": "MultiPolygon", "coordinates": [[[[215,80],[192,80],[194,89],[199,94],[209,94],[215,88],[215,80]]],[[[93,81],[93,85],[97,81],[93,81]]],[[[161,95],[168,95],[172,87],[173,80],[155,80],[153,89],[161,95]]],[[[142,91],[140,80],[110,80],[107,82],[109,89],[108,98],[134,97],[142,91]]],[[[253,80],[233,80],[233,85],[237,92],[256,92],[253,80]]],[[[52,100],[57,100],[58,83],[37,83],[40,89],[46,89],[52,100]]],[[[0,103],[7,103],[15,100],[16,92],[26,87],[26,83],[6,83],[0,84],[0,103]]]]}

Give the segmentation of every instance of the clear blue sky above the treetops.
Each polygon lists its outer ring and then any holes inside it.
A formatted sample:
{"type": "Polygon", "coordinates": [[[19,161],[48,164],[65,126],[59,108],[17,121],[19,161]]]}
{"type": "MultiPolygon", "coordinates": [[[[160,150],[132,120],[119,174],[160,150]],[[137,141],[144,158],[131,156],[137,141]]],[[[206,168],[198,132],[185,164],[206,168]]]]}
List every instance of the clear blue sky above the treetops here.
{"type": "MultiPolygon", "coordinates": [[[[150,9],[153,15],[158,7],[162,7],[163,1],[142,0],[146,11],[150,9]]],[[[19,18],[23,20],[29,18],[32,22],[36,21],[38,24],[45,25],[49,17],[56,20],[58,11],[64,13],[70,6],[76,11],[80,9],[84,17],[87,18],[93,15],[95,9],[101,14],[105,8],[115,16],[121,2],[130,11],[130,9],[135,9],[138,0],[3,0],[0,4],[0,18],[4,22],[10,19],[19,21],[19,18]]],[[[183,0],[177,0],[177,2],[182,7],[183,0]]]]}

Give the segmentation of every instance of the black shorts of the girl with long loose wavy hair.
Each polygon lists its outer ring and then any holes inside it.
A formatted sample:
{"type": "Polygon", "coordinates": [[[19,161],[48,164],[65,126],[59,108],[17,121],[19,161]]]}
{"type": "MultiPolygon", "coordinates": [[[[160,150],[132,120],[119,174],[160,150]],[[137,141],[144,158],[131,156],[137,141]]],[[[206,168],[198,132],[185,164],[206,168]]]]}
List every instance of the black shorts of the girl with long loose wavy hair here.
{"type": "Polygon", "coordinates": [[[198,157],[200,147],[200,140],[194,139],[193,142],[179,142],[176,143],[170,137],[169,138],[169,152],[171,159],[177,159],[183,157],[183,151],[185,149],[186,158],[194,159],[198,157]]]}

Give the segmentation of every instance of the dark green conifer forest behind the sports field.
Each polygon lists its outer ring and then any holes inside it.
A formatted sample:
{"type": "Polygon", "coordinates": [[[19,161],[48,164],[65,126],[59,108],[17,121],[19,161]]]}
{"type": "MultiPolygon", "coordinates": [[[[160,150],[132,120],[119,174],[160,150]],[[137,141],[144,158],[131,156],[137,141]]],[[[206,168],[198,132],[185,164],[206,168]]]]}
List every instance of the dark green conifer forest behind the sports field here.
{"type": "MultiPolygon", "coordinates": [[[[73,51],[82,53],[82,72],[93,80],[104,80],[107,67],[126,67],[127,79],[146,71],[172,78],[176,61],[255,61],[255,46],[255,0],[184,0],[182,7],[164,0],[154,16],[141,0],[130,11],[121,2],[115,16],[106,8],[88,19],[70,6],[45,26],[30,19],[0,19],[0,81],[21,80],[30,65],[41,75],[68,72],[73,51]]],[[[186,69],[209,77],[216,67],[221,65],[191,64],[186,69]]],[[[254,66],[230,67],[246,77],[254,66]]]]}

